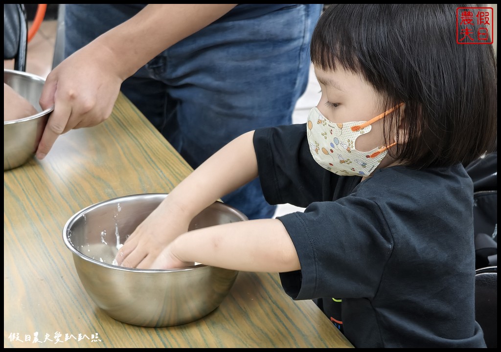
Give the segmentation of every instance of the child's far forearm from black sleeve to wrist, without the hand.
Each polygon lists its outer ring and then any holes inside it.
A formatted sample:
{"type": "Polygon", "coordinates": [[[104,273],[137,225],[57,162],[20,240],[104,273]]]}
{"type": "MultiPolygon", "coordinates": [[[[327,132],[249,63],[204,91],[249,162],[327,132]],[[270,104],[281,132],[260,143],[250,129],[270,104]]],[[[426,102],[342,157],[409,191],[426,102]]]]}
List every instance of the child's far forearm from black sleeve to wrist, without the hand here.
{"type": "Polygon", "coordinates": [[[192,218],[217,199],[258,176],[254,131],[224,146],[177,185],[161,206],[175,205],[192,218]]]}

